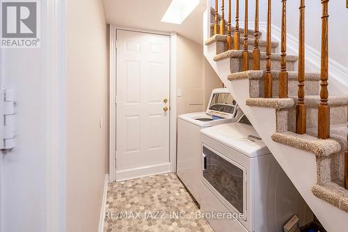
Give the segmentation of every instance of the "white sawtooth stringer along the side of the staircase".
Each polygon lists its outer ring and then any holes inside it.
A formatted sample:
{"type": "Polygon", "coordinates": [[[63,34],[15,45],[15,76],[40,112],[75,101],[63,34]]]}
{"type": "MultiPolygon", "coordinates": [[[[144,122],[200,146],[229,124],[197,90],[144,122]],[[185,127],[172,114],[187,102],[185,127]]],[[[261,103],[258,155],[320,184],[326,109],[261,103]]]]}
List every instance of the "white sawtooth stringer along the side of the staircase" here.
{"type": "MultiPolygon", "coordinates": [[[[207,11],[203,14],[203,38],[208,38],[207,11]]],[[[204,43],[203,43],[204,44],[204,43]]],[[[203,52],[207,61],[219,76],[223,84],[237,101],[239,107],[248,116],[255,130],[260,134],[264,143],[283,168],[296,189],[299,191],[308,206],[313,210],[326,231],[345,231],[347,229],[348,213],[332,206],[326,201],[318,199],[312,193],[312,187],[317,184],[317,157],[313,153],[299,150],[271,139],[276,132],[276,109],[265,107],[248,107],[246,99],[250,98],[250,82],[248,79],[228,80],[230,75],[230,59],[214,61],[216,43],[204,46],[203,52]]]]}

